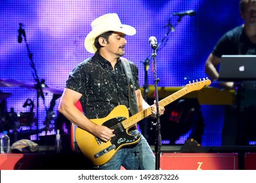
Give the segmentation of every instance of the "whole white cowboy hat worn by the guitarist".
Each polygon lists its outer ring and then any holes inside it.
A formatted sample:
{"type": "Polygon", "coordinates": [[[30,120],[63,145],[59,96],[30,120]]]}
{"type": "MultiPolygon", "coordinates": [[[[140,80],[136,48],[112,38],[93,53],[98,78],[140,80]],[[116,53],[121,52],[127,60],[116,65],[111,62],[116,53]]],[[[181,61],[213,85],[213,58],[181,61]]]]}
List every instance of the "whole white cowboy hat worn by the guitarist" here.
{"type": "Polygon", "coordinates": [[[121,24],[116,13],[104,14],[91,22],[92,31],[85,37],[85,49],[95,53],[95,38],[108,31],[117,31],[125,35],[135,35],[136,29],[130,25],[121,24]]]}

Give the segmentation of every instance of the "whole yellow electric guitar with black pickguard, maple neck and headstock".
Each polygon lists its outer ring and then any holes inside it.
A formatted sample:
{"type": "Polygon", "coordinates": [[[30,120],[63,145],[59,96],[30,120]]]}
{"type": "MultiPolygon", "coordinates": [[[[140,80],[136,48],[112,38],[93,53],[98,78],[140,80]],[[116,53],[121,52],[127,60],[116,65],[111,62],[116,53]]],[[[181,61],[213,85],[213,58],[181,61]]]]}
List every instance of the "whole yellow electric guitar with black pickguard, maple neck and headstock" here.
{"type": "MultiPolygon", "coordinates": [[[[159,101],[159,106],[165,107],[187,93],[200,90],[203,86],[211,84],[211,80],[203,78],[203,80],[186,84],[181,90],[165,97],[159,101]]],[[[100,141],[95,135],[77,127],[75,129],[75,139],[83,155],[91,160],[93,165],[102,165],[112,159],[116,152],[123,146],[137,144],[140,141],[140,135],[129,135],[128,131],[137,122],[150,116],[151,108],[146,108],[129,117],[128,108],[125,105],[119,105],[114,108],[105,118],[93,119],[92,121],[98,125],[104,125],[110,129],[114,129],[116,135],[110,141],[100,141]]]]}

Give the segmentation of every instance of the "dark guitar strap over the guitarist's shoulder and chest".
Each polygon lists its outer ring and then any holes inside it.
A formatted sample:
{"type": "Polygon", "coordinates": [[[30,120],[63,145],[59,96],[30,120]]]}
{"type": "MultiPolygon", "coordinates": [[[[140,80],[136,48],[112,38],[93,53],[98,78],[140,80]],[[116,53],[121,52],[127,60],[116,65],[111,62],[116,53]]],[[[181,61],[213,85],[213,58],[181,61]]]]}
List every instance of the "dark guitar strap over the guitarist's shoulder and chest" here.
{"type": "Polygon", "coordinates": [[[135,85],[133,82],[133,74],[131,73],[131,67],[129,61],[126,58],[122,58],[121,63],[123,64],[123,68],[125,69],[125,74],[127,77],[128,90],[129,90],[129,111],[131,115],[137,114],[139,112],[137,98],[135,93],[135,85]]]}

